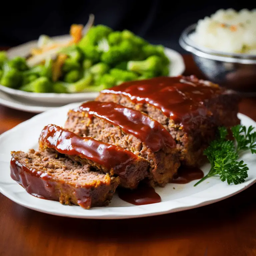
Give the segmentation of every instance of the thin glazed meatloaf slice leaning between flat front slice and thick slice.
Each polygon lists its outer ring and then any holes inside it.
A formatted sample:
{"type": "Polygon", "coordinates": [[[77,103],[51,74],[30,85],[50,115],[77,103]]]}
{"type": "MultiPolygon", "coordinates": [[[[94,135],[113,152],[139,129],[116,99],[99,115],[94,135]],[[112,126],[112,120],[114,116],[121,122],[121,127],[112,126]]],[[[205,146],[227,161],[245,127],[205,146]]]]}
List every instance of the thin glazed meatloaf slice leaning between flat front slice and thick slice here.
{"type": "Polygon", "coordinates": [[[90,164],[104,173],[118,175],[120,185],[137,187],[148,175],[148,162],[121,147],[80,137],[57,125],[49,124],[39,138],[40,150],[59,152],[82,164],[90,164]]]}

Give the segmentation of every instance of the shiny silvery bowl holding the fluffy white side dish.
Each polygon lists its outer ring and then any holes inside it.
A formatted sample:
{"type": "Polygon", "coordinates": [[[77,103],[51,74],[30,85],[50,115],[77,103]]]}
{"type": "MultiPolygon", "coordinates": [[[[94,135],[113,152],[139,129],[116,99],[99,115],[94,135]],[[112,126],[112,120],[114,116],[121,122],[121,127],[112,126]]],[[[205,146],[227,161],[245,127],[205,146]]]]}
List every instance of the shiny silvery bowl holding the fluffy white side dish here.
{"type": "Polygon", "coordinates": [[[202,73],[212,82],[241,93],[256,93],[256,55],[226,53],[198,46],[190,35],[196,24],[187,27],[179,43],[191,52],[202,73]]]}

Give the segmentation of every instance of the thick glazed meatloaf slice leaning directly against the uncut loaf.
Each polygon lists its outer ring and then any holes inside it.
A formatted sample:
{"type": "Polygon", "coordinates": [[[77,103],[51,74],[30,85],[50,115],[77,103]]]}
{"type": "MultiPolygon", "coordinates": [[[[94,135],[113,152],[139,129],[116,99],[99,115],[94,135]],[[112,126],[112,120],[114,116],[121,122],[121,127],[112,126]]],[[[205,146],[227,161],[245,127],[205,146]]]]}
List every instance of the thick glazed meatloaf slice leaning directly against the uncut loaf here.
{"type": "Polygon", "coordinates": [[[113,102],[90,101],[69,111],[65,128],[146,159],[151,185],[164,186],[180,166],[174,139],[160,123],[113,102]]]}

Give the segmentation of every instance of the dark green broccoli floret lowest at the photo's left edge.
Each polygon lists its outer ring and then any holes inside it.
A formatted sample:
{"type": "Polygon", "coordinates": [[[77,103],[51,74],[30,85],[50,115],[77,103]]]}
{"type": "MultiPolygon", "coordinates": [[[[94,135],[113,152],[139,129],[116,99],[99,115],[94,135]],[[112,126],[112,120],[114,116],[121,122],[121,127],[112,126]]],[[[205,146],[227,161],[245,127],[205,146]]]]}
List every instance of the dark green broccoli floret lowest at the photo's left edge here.
{"type": "Polygon", "coordinates": [[[15,68],[10,68],[8,65],[4,65],[3,74],[0,80],[0,84],[10,88],[18,88],[22,83],[22,74],[15,68]]]}

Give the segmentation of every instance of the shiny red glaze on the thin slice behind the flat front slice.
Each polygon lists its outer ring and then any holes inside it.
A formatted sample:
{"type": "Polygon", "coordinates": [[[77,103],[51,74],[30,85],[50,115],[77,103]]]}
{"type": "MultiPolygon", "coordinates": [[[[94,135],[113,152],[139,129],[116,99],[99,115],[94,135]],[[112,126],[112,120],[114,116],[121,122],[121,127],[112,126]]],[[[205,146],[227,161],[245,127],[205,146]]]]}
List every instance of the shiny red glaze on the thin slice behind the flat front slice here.
{"type": "Polygon", "coordinates": [[[108,169],[114,169],[115,173],[120,176],[125,174],[127,165],[138,159],[126,149],[89,137],[80,137],[52,124],[43,129],[39,145],[43,149],[53,148],[61,154],[77,155],[92,160],[108,169]]]}

